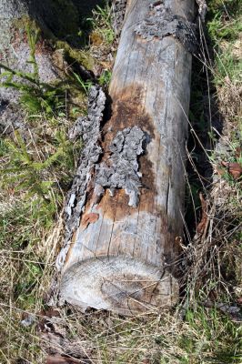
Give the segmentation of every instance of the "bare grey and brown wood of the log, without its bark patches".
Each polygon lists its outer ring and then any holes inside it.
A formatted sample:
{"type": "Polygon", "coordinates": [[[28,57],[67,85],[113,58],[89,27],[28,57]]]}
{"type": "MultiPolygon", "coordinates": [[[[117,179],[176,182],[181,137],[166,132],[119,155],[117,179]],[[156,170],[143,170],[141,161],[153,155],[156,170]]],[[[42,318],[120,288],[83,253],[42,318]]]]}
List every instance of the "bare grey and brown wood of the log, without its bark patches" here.
{"type": "MultiPolygon", "coordinates": [[[[109,89],[112,116],[102,130],[102,160],[117,131],[139,126],[146,133],[146,151],[138,158],[140,199],[129,207],[123,189],[114,197],[106,190],[97,205],[89,197],[60,288],[63,299],[84,309],[128,315],[177,298],[192,56],[174,36],[146,40],[136,34],[153,3],[128,2],[109,89]],[[86,225],[88,218],[93,222],[86,225]]],[[[193,0],[166,0],[166,5],[193,21],[193,0]]]]}

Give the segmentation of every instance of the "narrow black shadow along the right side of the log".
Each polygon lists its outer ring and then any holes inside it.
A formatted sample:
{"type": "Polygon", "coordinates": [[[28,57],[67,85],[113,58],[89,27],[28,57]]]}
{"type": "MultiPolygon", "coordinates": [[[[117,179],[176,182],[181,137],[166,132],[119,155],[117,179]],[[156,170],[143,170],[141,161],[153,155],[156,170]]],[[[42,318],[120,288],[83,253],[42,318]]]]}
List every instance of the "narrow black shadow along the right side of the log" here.
{"type": "Polygon", "coordinates": [[[213,167],[210,156],[217,146],[219,135],[223,131],[223,117],[219,112],[216,87],[211,71],[205,62],[212,66],[213,43],[203,29],[207,45],[198,57],[193,57],[191,100],[189,110],[189,134],[187,141],[187,191],[185,201],[184,237],[187,244],[197,232],[197,223],[201,219],[201,201],[199,193],[206,196],[213,182],[213,167]],[[204,53],[204,49],[207,52],[204,53]]]}

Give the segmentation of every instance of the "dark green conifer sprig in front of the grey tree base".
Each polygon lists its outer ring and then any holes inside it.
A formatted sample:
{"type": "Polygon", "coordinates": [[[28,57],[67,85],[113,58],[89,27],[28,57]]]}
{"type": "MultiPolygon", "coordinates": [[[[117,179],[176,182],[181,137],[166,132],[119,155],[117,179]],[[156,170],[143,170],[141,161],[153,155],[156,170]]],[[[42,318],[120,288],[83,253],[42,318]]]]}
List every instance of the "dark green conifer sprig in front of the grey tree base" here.
{"type": "Polygon", "coordinates": [[[33,67],[33,71],[23,72],[0,64],[5,72],[1,74],[1,86],[13,88],[20,93],[20,103],[30,115],[45,113],[52,116],[64,108],[64,90],[57,85],[50,85],[42,82],[39,76],[39,69],[35,58],[35,49],[39,41],[40,32],[26,27],[30,56],[27,61],[33,67]]]}

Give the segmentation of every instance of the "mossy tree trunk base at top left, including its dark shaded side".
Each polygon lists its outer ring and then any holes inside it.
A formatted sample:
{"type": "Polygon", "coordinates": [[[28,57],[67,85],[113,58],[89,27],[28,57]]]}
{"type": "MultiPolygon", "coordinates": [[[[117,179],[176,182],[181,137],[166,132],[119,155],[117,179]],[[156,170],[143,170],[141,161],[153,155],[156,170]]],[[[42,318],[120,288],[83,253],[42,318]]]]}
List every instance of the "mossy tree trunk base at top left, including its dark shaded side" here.
{"type": "MultiPolygon", "coordinates": [[[[33,65],[28,62],[30,47],[26,35],[26,27],[30,27],[33,32],[41,30],[35,52],[40,80],[49,83],[64,76],[63,53],[49,44],[55,45],[61,40],[62,47],[75,47],[77,53],[81,47],[78,35],[81,15],[91,15],[91,10],[100,1],[0,0],[0,63],[23,73],[33,71],[33,65]],[[46,42],[45,37],[50,42],[46,42]]],[[[2,72],[5,70],[0,67],[0,74],[2,72]]],[[[0,132],[10,133],[15,128],[24,128],[24,119],[19,106],[19,92],[10,87],[0,87],[0,132]]]]}

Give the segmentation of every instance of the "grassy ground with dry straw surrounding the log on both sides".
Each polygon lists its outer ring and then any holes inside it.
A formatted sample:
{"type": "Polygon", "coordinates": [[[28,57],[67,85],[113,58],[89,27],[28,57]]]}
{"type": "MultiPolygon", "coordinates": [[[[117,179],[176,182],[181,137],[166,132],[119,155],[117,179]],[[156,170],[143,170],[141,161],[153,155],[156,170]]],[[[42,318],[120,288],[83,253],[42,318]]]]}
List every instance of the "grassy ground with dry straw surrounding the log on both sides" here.
{"type": "MultiPolygon", "coordinates": [[[[27,139],[0,139],[1,363],[242,363],[242,12],[237,0],[207,5],[193,62],[179,303],[132,319],[45,304],[82,147],[67,131],[86,114],[93,82],[74,66],[70,97],[49,95],[36,113],[38,100],[25,95],[27,139]]],[[[107,89],[116,53],[109,6],[79,35],[81,56],[107,89]]]]}

